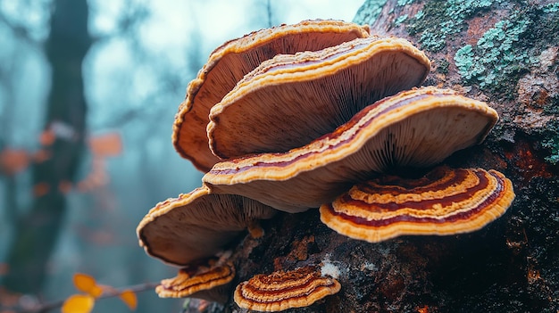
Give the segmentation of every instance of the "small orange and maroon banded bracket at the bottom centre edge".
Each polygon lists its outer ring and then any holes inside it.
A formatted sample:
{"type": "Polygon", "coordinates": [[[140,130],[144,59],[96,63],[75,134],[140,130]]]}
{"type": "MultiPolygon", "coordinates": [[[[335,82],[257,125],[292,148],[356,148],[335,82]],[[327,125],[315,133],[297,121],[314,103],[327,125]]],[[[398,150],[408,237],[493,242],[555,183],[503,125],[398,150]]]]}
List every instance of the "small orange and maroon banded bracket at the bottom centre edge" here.
{"type": "Polygon", "coordinates": [[[336,279],[321,276],[320,268],[311,266],[256,275],[238,284],[234,299],[240,308],[277,312],[308,307],[340,288],[336,279]]]}

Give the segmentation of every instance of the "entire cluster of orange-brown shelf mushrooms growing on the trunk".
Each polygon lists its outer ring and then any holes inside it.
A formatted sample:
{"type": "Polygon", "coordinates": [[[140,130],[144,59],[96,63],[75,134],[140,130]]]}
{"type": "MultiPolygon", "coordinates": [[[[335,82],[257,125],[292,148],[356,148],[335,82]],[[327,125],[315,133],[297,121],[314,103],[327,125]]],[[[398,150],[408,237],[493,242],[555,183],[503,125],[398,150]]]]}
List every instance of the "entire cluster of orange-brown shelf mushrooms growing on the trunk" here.
{"type": "MultiPolygon", "coordinates": [[[[257,221],[278,210],[320,207],[328,227],[371,243],[471,232],[504,214],[514,194],[503,174],[431,169],[480,144],[498,116],[454,91],[418,87],[429,71],[405,39],[343,21],[262,29],[217,48],[173,126],[173,144],[205,172],[203,185],[159,203],[137,230],[148,254],[188,268],[157,292],[230,284],[230,262],[207,259],[245,229],[260,235],[257,221]],[[431,170],[394,176],[412,168],[431,170]]],[[[235,301],[275,311],[338,291],[333,277],[298,268],[239,284],[235,301]]]]}

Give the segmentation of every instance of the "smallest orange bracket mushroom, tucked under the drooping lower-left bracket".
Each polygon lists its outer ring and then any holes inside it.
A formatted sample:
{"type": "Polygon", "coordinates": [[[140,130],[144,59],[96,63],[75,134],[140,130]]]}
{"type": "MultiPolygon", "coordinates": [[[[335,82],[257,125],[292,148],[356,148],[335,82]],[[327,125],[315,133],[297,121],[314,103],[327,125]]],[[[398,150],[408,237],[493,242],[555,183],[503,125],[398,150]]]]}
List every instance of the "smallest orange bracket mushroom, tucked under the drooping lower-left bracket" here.
{"type": "Polygon", "coordinates": [[[155,287],[161,298],[199,298],[208,301],[225,302],[229,298],[226,287],[235,277],[235,267],[231,262],[211,268],[181,268],[177,276],[163,279],[155,287]],[[222,288],[219,288],[222,287],[222,288]]]}

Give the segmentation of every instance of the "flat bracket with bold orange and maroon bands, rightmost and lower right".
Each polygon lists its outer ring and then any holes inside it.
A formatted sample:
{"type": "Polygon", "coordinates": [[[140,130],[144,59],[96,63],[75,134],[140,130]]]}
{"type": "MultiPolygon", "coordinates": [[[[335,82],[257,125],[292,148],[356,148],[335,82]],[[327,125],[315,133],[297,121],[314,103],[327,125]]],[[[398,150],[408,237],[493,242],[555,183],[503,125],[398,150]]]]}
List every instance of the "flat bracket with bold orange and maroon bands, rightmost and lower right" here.
{"type": "Polygon", "coordinates": [[[500,217],[514,199],[496,170],[439,167],[410,179],[379,177],[321,205],[321,221],[341,235],[378,243],[398,235],[469,233],[500,217]]]}

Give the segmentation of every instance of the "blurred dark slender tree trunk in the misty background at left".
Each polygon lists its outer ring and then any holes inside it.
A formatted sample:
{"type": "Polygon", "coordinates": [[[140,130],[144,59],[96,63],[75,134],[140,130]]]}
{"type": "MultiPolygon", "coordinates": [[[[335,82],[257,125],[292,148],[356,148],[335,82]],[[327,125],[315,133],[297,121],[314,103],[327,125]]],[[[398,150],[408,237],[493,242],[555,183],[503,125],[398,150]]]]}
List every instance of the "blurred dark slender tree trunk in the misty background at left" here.
{"type": "Polygon", "coordinates": [[[67,186],[74,180],[83,152],[86,101],[81,67],[91,45],[87,1],[55,1],[50,26],[46,56],[52,88],[46,129],[55,139],[46,148],[48,159],[33,168],[35,199],[15,229],[3,282],[12,292],[40,291],[65,216],[67,186]]]}

